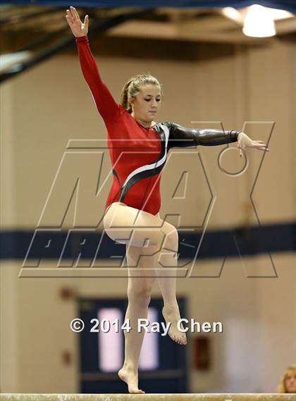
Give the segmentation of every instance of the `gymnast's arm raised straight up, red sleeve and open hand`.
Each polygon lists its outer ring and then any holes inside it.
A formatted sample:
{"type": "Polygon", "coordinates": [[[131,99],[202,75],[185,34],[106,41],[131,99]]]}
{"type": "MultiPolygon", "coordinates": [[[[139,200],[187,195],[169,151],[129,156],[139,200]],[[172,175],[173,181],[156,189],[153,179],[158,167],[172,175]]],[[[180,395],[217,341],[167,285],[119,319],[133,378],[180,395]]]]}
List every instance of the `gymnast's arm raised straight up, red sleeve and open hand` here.
{"type": "Polygon", "coordinates": [[[90,44],[87,37],[88,16],[85,16],[85,22],[82,23],[78,12],[74,7],[70,7],[70,10],[67,10],[66,18],[76,38],[75,42],[78,47],[82,74],[85,77],[87,85],[90,87],[97,109],[104,121],[114,120],[118,118],[120,114],[120,106],[113,99],[108,87],[106,87],[105,83],[101,80],[97,63],[90,51],[90,44]]]}

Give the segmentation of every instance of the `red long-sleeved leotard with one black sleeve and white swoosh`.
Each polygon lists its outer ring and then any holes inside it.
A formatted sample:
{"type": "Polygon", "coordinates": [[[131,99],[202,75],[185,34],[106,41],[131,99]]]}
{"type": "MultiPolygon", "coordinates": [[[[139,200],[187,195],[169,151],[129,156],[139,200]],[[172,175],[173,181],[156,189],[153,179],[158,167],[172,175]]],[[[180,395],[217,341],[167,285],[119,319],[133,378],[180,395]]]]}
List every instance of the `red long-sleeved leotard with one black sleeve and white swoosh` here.
{"type": "Polygon", "coordinates": [[[112,97],[101,80],[87,36],[77,37],[82,73],[107,128],[113,183],[105,204],[123,202],[157,214],[161,206],[160,177],[171,147],[235,142],[241,131],[192,130],[174,123],[145,128],[112,97]]]}

